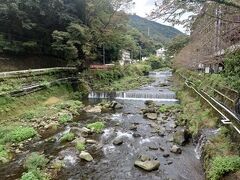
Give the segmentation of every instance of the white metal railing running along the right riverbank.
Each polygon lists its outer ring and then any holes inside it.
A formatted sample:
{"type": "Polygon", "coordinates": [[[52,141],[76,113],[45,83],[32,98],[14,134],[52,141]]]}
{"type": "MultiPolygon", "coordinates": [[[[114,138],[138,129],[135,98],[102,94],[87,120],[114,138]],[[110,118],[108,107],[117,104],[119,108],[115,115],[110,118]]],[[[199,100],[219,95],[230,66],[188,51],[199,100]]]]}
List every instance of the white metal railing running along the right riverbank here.
{"type": "Polygon", "coordinates": [[[197,90],[195,84],[189,81],[186,77],[179,74],[185,81],[185,85],[196,92],[203,100],[205,100],[216,112],[222,116],[221,122],[226,125],[231,125],[240,134],[240,119],[238,116],[223,103],[216,100],[203,90],[197,90]]]}

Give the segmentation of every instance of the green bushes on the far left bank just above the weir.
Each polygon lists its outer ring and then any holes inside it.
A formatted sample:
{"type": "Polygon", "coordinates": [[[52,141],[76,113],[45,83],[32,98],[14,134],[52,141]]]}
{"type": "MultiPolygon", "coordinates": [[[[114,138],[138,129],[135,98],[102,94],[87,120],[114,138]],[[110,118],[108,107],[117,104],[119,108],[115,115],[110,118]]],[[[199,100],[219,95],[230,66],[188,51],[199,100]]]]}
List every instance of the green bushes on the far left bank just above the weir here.
{"type": "Polygon", "coordinates": [[[116,66],[112,70],[97,71],[93,74],[86,73],[85,78],[91,79],[90,86],[98,91],[119,91],[138,88],[141,85],[152,82],[152,79],[145,77],[151,70],[149,65],[143,63],[131,64],[128,66],[116,66]],[[128,86],[126,86],[128,84],[128,86]]]}

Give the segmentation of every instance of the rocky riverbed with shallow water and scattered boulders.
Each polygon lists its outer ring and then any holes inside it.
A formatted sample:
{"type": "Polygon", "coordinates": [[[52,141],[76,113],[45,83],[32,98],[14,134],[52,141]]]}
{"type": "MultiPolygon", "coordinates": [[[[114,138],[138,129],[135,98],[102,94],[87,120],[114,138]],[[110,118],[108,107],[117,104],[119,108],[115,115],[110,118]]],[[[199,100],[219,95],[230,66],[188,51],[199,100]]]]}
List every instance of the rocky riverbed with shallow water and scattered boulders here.
{"type": "Polygon", "coordinates": [[[136,99],[121,98],[98,105],[99,99],[88,102],[90,106],[74,122],[25,145],[12,162],[0,167],[0,177],[20,178],[25,157],[40,152],[49,159],[48,172],[54,179],[204,179],[186,129],[177,126],[178,111],[159,110],[162,104],[176,103],[167,99],[173,97],[169,74],[155,73],[155,77],[156,82],[136,90],[136,99]],[[155,95],[151,101],[143,100],[144,93],[152,92],[155,95]],[[95,122],[103,122],[104,128],[98,132],[91,129],[96,126],[89,124],[95,122]],[[74,137],[63,142],[67,133],[74,137]],[[76,144],[81,143],[84,150],[79,151],[76,144]],[[56,162],[61,164],[58,171],[51,166],[56,162]]]}

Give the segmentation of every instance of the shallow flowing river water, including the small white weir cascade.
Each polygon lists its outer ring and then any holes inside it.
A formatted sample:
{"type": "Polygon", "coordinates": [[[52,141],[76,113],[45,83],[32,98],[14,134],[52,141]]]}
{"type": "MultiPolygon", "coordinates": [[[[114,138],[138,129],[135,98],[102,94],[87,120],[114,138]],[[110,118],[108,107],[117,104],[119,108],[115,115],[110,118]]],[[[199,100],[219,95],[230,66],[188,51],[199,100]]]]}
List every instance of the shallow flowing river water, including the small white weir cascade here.
{"type": "MultiPolygon", "coordinates": [[[[168,78],[170,71],[152,72],[150,76],[156,81],[137,90],[117,93],[90,93],[90,104],[96,104],[105,99],[116,99],[123,104],[123,109],[111,113],[85,113],[76,121],[69,124],[57,133],[43,136],[44,140],[30,143],[26,151],[18,155],[14,161],[0,167],[0,179],[17,179],[24,172],[22,166],[30,152],[43,152],[52,161],[64,161],[64,168],[56,179],[63,180],[203,180],[204,173],[195,153],[192,143],[181,147],[182,154],[170,153],[173,145],[172,136],[177,128],[172,125],[175,115],[169,113],[166,124],[143,118],[140,114],[145,107],[145,100],[154,100],[157,104],[178,103],[176,95],[171,91],[172,85],[168,78]],[[87,151],[93,156],[93,162],[85,162],[79,158],[74,143],[61,144],[62,134],[69,131],[78,131],[87,123],[104,120],[106,129],[102,134],[93,134],[89,139],[97,144],[87,146],[87,151]],[[136,129],[130,127],[136,126],[136,129]],[[164,135],[159,135],[156,129],[163,129],[164,135]],[[138,136],[136,136],[136,134],[138,136]],[[123,138],[123,144],[114,146],[116,137],[123,138]],[[146,172],[134,166],[140,155],[147,155],[160,161],[160,168],[146,172]],[[163,157],[169,154],[169,157],[163,157]]],[[[160,118],[164,118],[160,115],[160,118]]]]}

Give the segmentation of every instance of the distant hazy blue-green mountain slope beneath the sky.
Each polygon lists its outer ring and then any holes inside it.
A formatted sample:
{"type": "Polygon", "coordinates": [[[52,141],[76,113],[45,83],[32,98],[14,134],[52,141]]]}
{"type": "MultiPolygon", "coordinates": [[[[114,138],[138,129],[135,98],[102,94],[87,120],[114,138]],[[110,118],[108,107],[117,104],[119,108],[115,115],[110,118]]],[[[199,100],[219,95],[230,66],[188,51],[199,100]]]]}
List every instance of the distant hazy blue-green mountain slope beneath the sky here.
{"type": "Polygon", "coordinates": [[[171,26],[162,25],[160,23],[147,20],[137,15],[129,15],[129,25],[136,28],[146,36],[148,28],[150,37],[157,42],[166,43],[177,35],[183,34],[181,31],[171,26]]]}

